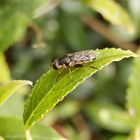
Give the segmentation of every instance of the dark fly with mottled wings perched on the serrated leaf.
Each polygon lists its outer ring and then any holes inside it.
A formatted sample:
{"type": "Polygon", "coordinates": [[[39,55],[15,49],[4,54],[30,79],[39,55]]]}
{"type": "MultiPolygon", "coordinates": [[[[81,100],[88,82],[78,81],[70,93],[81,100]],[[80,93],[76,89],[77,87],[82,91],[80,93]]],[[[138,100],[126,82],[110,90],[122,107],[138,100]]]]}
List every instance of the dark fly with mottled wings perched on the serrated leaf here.
{"type": "MultiPolygon", "coordinates": [[[[86,51],[80,51],[80,52],[75,52],[75,53],[69,53],[55,59],[52,63],[52,67],[55,70],[68,68],[70,71],[70,68],[72,67],[86,66],[85,64],[95,60],[96,56],[97,56],[97,53],[94,50],[86,50],[86,51]]],[[[88,66],[88,65],[87,67],[98,69],[98,68],[95,68],[93,66],[88,66]]]]}

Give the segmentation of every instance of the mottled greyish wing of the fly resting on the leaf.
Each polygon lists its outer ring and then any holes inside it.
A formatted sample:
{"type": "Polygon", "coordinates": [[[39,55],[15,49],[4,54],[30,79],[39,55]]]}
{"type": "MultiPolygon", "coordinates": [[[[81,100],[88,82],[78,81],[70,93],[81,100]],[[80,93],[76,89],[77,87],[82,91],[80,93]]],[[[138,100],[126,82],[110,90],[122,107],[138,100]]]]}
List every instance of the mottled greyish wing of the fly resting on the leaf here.
{"type": "Polygon", "coordinates": [[[94,50],[80,51],[67,54],[71,60],[71,66],[77,64],[85,64],[96,59],[96,53],[94,50]]]}

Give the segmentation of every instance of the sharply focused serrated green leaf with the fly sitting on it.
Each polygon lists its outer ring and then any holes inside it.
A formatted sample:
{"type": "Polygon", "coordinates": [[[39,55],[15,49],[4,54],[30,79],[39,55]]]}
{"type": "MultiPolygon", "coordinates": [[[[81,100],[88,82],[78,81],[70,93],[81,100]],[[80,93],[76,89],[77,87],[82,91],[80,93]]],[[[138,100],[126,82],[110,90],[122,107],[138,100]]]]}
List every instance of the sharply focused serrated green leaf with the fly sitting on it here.
{"type": "MultiPolygon", "coordinates": [[[[89,65],[98,69],[102,69],[113,61],[136,56],[136,54],[131,51],[114,48],[96,50],[96,53],[98,54],[97,59],[89,63],[89,65]]],[[[31,127],[35,121],[47,114],[69,92],[74,90],[95,72],[97,72],[97,69],[90,67],[73,68],[71,69],[72,80],[70,79],[70,73],[67,69],[63,70],[61,74],[59,71],[53,69],[43,74],[34,86],[25,106],[25,128],[31,127]]]]}

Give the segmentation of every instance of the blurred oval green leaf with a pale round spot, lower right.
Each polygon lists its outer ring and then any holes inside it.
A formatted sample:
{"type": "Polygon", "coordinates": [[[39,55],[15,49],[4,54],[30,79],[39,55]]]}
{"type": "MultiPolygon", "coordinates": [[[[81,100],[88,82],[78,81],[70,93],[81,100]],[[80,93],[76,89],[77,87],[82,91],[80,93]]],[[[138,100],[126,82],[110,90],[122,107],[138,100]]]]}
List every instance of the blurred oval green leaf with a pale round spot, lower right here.
{"type": "Polygon", "coordinates": [[[129,114],[109,102],[92,101],[84,111],[93,123],[114,132],[128,132],[133,128],[129,114]]]}

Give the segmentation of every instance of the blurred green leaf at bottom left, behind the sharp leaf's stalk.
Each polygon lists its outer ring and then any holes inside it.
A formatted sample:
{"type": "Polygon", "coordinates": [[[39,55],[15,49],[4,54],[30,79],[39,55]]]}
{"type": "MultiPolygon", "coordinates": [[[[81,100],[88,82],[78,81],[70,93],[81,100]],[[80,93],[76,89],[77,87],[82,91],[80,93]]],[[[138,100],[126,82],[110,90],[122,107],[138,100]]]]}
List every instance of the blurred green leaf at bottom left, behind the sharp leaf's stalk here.
{"type": "MultiPolygon", "coordinates": [[[[52,128],[36,124],[31,129],[33,140],[64,140],[52,128]]],[[[6,140],[25,140],[23,122],[14,117],[0,117],[0,136],[6,140]]]]}

